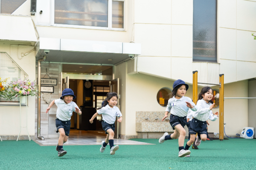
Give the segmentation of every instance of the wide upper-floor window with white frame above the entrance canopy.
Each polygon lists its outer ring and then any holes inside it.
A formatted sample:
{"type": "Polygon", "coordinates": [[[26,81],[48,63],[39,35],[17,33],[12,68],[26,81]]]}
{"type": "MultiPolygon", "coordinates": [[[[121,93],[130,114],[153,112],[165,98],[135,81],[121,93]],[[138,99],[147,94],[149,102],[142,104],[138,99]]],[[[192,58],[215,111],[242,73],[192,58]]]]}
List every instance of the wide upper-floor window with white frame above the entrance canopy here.
{"type": "Polygon", "coordinates": [[[54,0],[54,26],[124,30],[124,1],[54,0]]]}

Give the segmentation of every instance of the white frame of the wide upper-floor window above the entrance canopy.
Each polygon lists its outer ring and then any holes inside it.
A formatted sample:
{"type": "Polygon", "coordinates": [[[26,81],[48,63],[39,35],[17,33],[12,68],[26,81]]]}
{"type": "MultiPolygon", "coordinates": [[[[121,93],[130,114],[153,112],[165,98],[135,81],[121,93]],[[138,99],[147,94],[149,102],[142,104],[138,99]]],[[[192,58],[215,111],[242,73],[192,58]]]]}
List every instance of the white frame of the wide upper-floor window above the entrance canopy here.
{"type": "MultiPolygon", "coordinates": [[[[125,0],[108,0],[108,27],[96,27],[96,26],[78,26],[78,25],[68,25],[68,24],[55,24],[54,23],[54,10],[55,10],[55,0],[51,0],[51,26],[65,27],[65,28],[85,28],[85,29],[100,29],[100,30],[114,30],[114,31],[125,31],[125,0]],[[124,2],[124,28],[112,28],[112,1],[122,1],[124,2]]],[[[38,23],[39,25],[39,23],[38,23]]]]}

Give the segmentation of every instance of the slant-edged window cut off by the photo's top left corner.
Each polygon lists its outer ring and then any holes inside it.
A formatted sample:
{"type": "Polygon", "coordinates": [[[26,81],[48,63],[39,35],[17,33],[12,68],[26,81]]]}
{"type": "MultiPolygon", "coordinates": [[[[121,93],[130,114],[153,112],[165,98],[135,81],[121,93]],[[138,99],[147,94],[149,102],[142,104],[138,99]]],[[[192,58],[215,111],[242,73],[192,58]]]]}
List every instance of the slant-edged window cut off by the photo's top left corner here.
{"type": "Polygon", "coordinates": [[[26,0],[0,0],[0,14],[12,14],[26,0]]]}

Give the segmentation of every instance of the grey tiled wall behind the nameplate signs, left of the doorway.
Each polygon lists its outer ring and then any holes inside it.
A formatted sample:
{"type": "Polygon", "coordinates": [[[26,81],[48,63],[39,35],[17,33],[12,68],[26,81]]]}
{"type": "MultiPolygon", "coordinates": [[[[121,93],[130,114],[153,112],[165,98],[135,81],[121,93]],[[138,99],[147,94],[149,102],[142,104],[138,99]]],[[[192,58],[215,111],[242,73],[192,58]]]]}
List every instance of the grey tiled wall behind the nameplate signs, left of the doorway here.
{"type": "MultiPolygon", "coordinates": [[[[51,101],[58,99],[61,96],[61,71],[62,64],[56,63],[41,63],[41,78],[52,78],[57,79],[58,84],[54,86],[54,93],[51,94],[51,101]],[[46,72],[47,70],[47,72],[46,72]],[[46,75],[46,74],[49,74],[46,75]]],[[[36,77],[37,77],[37,67],[36,67],[36,77]]],[[[35,136],[37,136],[37,98],[35,107],[35,136]]],[[[49,113],[45,113],[49,104],[44,101],[44,94],[41,94],[41,136],[44,138],[56,138],[58,133],[56,133],[55,119],[57,106],[53,105],[49,113]]]]}

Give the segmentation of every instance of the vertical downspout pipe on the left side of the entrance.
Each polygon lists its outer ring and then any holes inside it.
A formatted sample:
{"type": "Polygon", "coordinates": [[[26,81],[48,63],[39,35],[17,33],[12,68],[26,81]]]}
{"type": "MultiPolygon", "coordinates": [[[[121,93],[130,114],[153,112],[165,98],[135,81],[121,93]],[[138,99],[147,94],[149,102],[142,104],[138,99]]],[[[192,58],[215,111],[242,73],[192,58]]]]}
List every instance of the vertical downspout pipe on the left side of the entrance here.
{"type": "Polygon", "coordinates": [[[41,62],[46,60],[46,56],[42,59],[38,59],[38,139],[44,140],[41,136],[41,62]]]}

